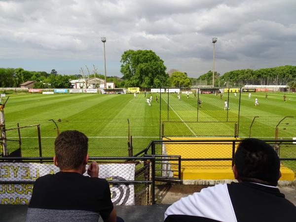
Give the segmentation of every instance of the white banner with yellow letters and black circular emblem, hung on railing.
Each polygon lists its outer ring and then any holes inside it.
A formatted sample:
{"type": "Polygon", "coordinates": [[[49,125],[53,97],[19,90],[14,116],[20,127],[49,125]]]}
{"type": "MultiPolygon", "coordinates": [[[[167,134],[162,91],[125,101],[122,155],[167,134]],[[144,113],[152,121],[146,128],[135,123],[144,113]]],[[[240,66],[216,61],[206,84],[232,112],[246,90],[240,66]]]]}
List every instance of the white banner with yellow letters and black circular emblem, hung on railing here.
{"type": "MultiPolygon", "coordinates": [[[[108,181],[135,180],[135,164],[99,164],[99,167],[99,177],[108,181]]],[[[57,172],[59,168],[53,164],[0,163],[1,181],[35,181],[41,176],[57,172]]],[[[110,190],[114,205],[135,204],[134,185],[110,184],[110,190]]],[[[33,184],[0,184],[0,204],[29,204],[32,191],[33,184]]]]}

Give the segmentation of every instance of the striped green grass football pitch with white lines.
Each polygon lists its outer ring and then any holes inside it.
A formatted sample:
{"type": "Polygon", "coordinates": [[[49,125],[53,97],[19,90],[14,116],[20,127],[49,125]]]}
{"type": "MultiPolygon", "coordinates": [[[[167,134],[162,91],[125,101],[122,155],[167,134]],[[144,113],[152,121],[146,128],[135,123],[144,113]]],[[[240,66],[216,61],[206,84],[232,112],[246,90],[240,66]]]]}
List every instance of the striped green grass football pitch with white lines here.
{"type": "MultiPolygon", "coordinates": [[[[155,95],[151,107],[146,104],[144,94],[134,98],[126,95],[99,94],[11,94],[5,106],[6,129],[20,126],[40,124],[42,155],[52,156],[54,139],[57,136],[54,119],[60,131],[79,130],[89,137],[90,156],[127,156],[128,121],[130,134],[133,136],[134,153],[145,148],[150,140],[159,138],[160,103],[155,103],[155,95]],[[60,119],[60,121],[58,121],[60,119]]],[[[241,95],[239,137],[249,137],[249,128],[254,116],[260,116],[253,124],[251,136],[272,139],[275,136],[275,126],[284,116],[295,115],[296,94],[287,94],[287,102],[283,102],[283,93],[265,93],[241,95]],[[254,106],[255,96],[259,106],[254,106]]],[[[202,107],[197,116],[197,100],[193,95],[186,98],[177,94],[162,94],[161,119],[175,120],[176,123],[166,123],[165,135],[179,136],[231,136],[234,134],[234,122],[238,119],[239,95],[229,96],[230,110],[224,111],[223,99],[219,96],[199,95],[202,107]],[[167,103],[169,100],[169,112],[167,103]],[[198,121],[196,123],[196,120],[198,121]],[[183,121],[188,123],[183,123],[183,121]],[[191,122],[190,122],[191,121],[191,122]],[[215,121],[216,123],[209,123],[215,121]],[[227,122],[228,121],[228,122],[227,122]],[[217,123],[219,122],[219,123],[217,123]]],[[[160,98],[160,95],[158,95],[160,98]]],[[[227,99],[228,100],[228,99],[227,99]]],[[[21,129],[23,156],[38,156],[37,127],[21,129]]],[[[296,116],[285,119],[279,126],[279,138],[292,139],[296,137],[296,116]]],[[[17,139],[17,131],[7,131],[8,139],[17,139]]],[[[17,142],[8,141],[9,152],[18,147],[17,142]]],[[[293,155],[295,152],[293,151],[293,155]]],[[[296,157],[296,155],[289,157],[296,157]]]]}

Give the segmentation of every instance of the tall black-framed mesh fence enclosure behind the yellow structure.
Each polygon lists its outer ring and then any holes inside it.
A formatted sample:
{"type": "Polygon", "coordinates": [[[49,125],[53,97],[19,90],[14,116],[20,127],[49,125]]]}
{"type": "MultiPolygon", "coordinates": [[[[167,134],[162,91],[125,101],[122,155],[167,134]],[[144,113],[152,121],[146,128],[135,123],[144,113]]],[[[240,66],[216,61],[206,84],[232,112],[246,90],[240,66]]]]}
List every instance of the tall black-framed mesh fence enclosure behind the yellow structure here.
{"type": "Polygon", "coordinates": [[[240,92],[240,88],[160,91],[161,136],[237,137],[240,92]]]}

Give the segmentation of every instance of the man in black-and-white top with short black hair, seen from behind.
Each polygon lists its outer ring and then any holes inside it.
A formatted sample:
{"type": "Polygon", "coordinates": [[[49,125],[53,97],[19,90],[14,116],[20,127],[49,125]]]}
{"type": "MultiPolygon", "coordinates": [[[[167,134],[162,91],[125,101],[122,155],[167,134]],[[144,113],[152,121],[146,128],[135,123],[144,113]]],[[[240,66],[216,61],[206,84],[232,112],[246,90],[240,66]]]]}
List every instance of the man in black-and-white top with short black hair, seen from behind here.
{"type": "Polygon", "coordinates": [[[165,222],[295,222],[296,207],[276,187],[280,160],[258,139],[243,140],[232,167],[239,183],[202,189],[171,205],[165,222]]]}

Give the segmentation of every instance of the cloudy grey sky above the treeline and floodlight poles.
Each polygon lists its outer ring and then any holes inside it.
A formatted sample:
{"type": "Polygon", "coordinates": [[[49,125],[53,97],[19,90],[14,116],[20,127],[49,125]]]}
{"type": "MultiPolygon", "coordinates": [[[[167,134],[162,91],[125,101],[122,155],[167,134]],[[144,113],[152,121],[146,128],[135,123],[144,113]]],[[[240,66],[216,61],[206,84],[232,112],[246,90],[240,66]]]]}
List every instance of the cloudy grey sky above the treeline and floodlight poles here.
{"type": "Polygon", "coordinates": [[[0,0],[0,67],[120,74],[127,49],[151,49],[190,77],[216,68],[296,65],[296,0],[0,0]]]}

